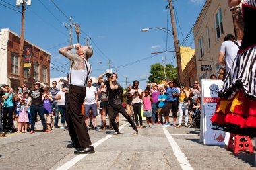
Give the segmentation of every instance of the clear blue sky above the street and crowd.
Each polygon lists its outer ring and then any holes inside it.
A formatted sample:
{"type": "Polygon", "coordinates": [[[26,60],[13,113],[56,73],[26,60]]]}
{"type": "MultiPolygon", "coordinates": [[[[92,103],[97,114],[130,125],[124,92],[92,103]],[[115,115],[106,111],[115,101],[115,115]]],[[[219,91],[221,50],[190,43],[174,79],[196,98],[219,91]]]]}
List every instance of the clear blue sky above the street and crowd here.
{"type": "MultiPolygon", "coordinates": [[[[18,11],[20,9],[4,1],[15,5],[15,0],[0,0],[0,28],[10,28],[20,34],[21,13],[3,5],[18,11]]],[[[108,68],[108,60],[111,60],[114,70],[118,70],[118,81],[122,87],[126,86],[125,77],[127,77],[128,85],[137,79],[140,83],[139,87],[144,88],[150,74],[150,65],[156,62],[162,63],[162,56],[166,57],[166,64],[172,63],[176,66],[173,52],[167,53],[166,56],[151,54],[166,49],[166,32],[156,29],[141,32],[142,28],[152,27],[172,30],[170,11],[166,9],[167,0],[53,1],[64,14],[51,0],[32,0],[32,5],[26,9],[25,14],[25,38],[45,50],[51,48],[48,50],[52,58],[51,77],[63,77],[69,72],[69,65],[65,65],[69,60],[61,56],[58,49],[69,45],[69,30],[63,26],[63,22],[69,23],[67,17],[70,16],[73,17],[73,22],[77,22],[81,30],[92,38],[91,45],[94,49],[94,56],[90,59],[92,77],[104,73],[108,68]],[[62,45],[57,46],[59,44],[62,45]],[[57,47],[53,48],[54,46],[57,47]],[[58,67],[61,65],[65,65],[64,68],[58,67]]],[[[177,22],[179,21],[177,23],[179,42],[182,42],[183,37],[191,30],[204,3],[205,0],[174,0],[175,15],[177,22]]],[[[85,42],[84,33],[80,36],[81,44],[85,42]]],[[[76,42],[77,38],[73,31],[73,44],[76,42]]],[[[186,45],[194,48],[193,34],[186,41],[186,45]]],[[[174,50],[171,36],[167,38],[167,46],[169,50],[174,50]]]]}

